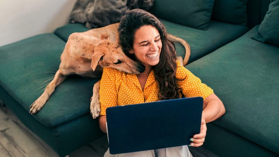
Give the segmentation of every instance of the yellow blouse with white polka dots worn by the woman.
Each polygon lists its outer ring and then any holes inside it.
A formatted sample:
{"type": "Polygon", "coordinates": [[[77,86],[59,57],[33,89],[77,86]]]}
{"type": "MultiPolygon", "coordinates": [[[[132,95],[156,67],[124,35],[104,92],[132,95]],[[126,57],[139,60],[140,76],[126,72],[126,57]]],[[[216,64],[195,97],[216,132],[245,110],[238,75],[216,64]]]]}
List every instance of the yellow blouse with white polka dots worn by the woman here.
{"type": "MultiPolygon", "coordinates": [[[[182,93],[185,98],[201,96],[205,99],[213,93],[210,87],[201,83],[201,80],[181,66],[178,60],[176,63],[176,78],[183,79],[186,76],[185,80],[178,81],[178,85],[182,87],[182,93]]],[[[108,107],[157,101],[158,92],[159,86],[155,81],[153,70],[149,73],[144,90],[142,91],[136,74],[105,67],[100,82],[100,114],[106,115],[108,107]]]]}

